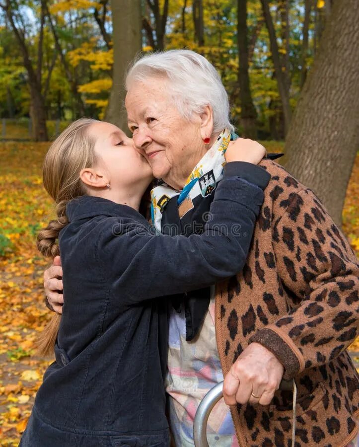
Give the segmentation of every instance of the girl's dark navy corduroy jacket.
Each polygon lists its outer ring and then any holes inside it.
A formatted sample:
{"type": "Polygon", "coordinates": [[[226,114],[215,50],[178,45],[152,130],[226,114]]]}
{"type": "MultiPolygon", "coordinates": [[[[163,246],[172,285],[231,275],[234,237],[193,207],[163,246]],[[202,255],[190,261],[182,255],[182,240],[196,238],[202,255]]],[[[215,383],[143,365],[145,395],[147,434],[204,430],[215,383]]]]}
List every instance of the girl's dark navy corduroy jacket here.
{"type": "Polygon", "coordinates": [[[203,234],[189,237],[158,235],[136,210],[106,199],[82,196],[68,204],[56,361],[21,446],[64,446],[69,436],[79,446],[168,444],[165,296],[243,268],[269,179],[258,166],[228,163],[213,219],[203,234]],[[251,183],[241,173],[251,173],[251,183]]]}

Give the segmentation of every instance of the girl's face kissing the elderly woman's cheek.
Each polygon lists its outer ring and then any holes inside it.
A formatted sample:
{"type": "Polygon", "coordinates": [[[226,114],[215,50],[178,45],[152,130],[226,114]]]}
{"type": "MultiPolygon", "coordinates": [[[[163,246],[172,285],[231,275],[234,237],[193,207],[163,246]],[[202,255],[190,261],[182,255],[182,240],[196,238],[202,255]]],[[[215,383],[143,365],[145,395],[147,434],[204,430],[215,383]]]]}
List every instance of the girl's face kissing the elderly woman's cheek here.
{"type": "Polygon", "coordinates": [[[96,163],[108,178],[110,188],[121,190],[146,188],[153,179],[152,169],[135,149],[132,138],[110,123],[91,124],[89,134],[95,138],[96,163]]]}

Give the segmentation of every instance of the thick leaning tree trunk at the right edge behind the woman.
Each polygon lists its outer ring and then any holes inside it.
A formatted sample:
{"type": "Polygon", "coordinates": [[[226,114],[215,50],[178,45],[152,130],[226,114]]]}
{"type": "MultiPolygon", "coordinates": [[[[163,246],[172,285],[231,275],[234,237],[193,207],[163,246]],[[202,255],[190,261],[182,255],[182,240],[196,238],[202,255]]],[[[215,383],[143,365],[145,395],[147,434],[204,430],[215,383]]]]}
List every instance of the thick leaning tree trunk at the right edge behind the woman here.
{"type": "Polygon", "coordinates": [[[334,2],[286,141],[286,167],[336,224],[359,147],[359,8],[334,2]]]}

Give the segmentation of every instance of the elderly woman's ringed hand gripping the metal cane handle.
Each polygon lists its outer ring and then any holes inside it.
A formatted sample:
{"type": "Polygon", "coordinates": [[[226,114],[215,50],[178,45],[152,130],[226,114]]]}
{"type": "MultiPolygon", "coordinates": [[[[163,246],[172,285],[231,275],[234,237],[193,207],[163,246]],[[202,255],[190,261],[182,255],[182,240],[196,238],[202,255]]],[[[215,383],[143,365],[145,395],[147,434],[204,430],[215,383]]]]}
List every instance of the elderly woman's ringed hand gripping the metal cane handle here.
{"type": "Polygon", "coordinates": [[[274,354],[259,343],[251,343],[224,378],[225,403],[269,405],[279,389],[283,372],[283,365],[274,354]]]}

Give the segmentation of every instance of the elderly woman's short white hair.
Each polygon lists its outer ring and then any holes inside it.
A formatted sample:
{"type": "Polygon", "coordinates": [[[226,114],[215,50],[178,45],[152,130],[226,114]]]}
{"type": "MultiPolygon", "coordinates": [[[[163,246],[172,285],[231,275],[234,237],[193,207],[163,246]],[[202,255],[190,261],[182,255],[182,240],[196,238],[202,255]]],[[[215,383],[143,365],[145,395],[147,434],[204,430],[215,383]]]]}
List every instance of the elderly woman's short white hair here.
{"type": "Polygon", "coordinates": [[[224,128],[234,131],[229,121],[228,95],[215,70],[206,58],[191,50],[169,50],[145,55],[135,60],[126,76],[126,90],[134,81],[145,82],[148,77],[166,76],[168,93],[180,114],[191,120],[205,106],[213,110],[213,132],[224,128]]]}

